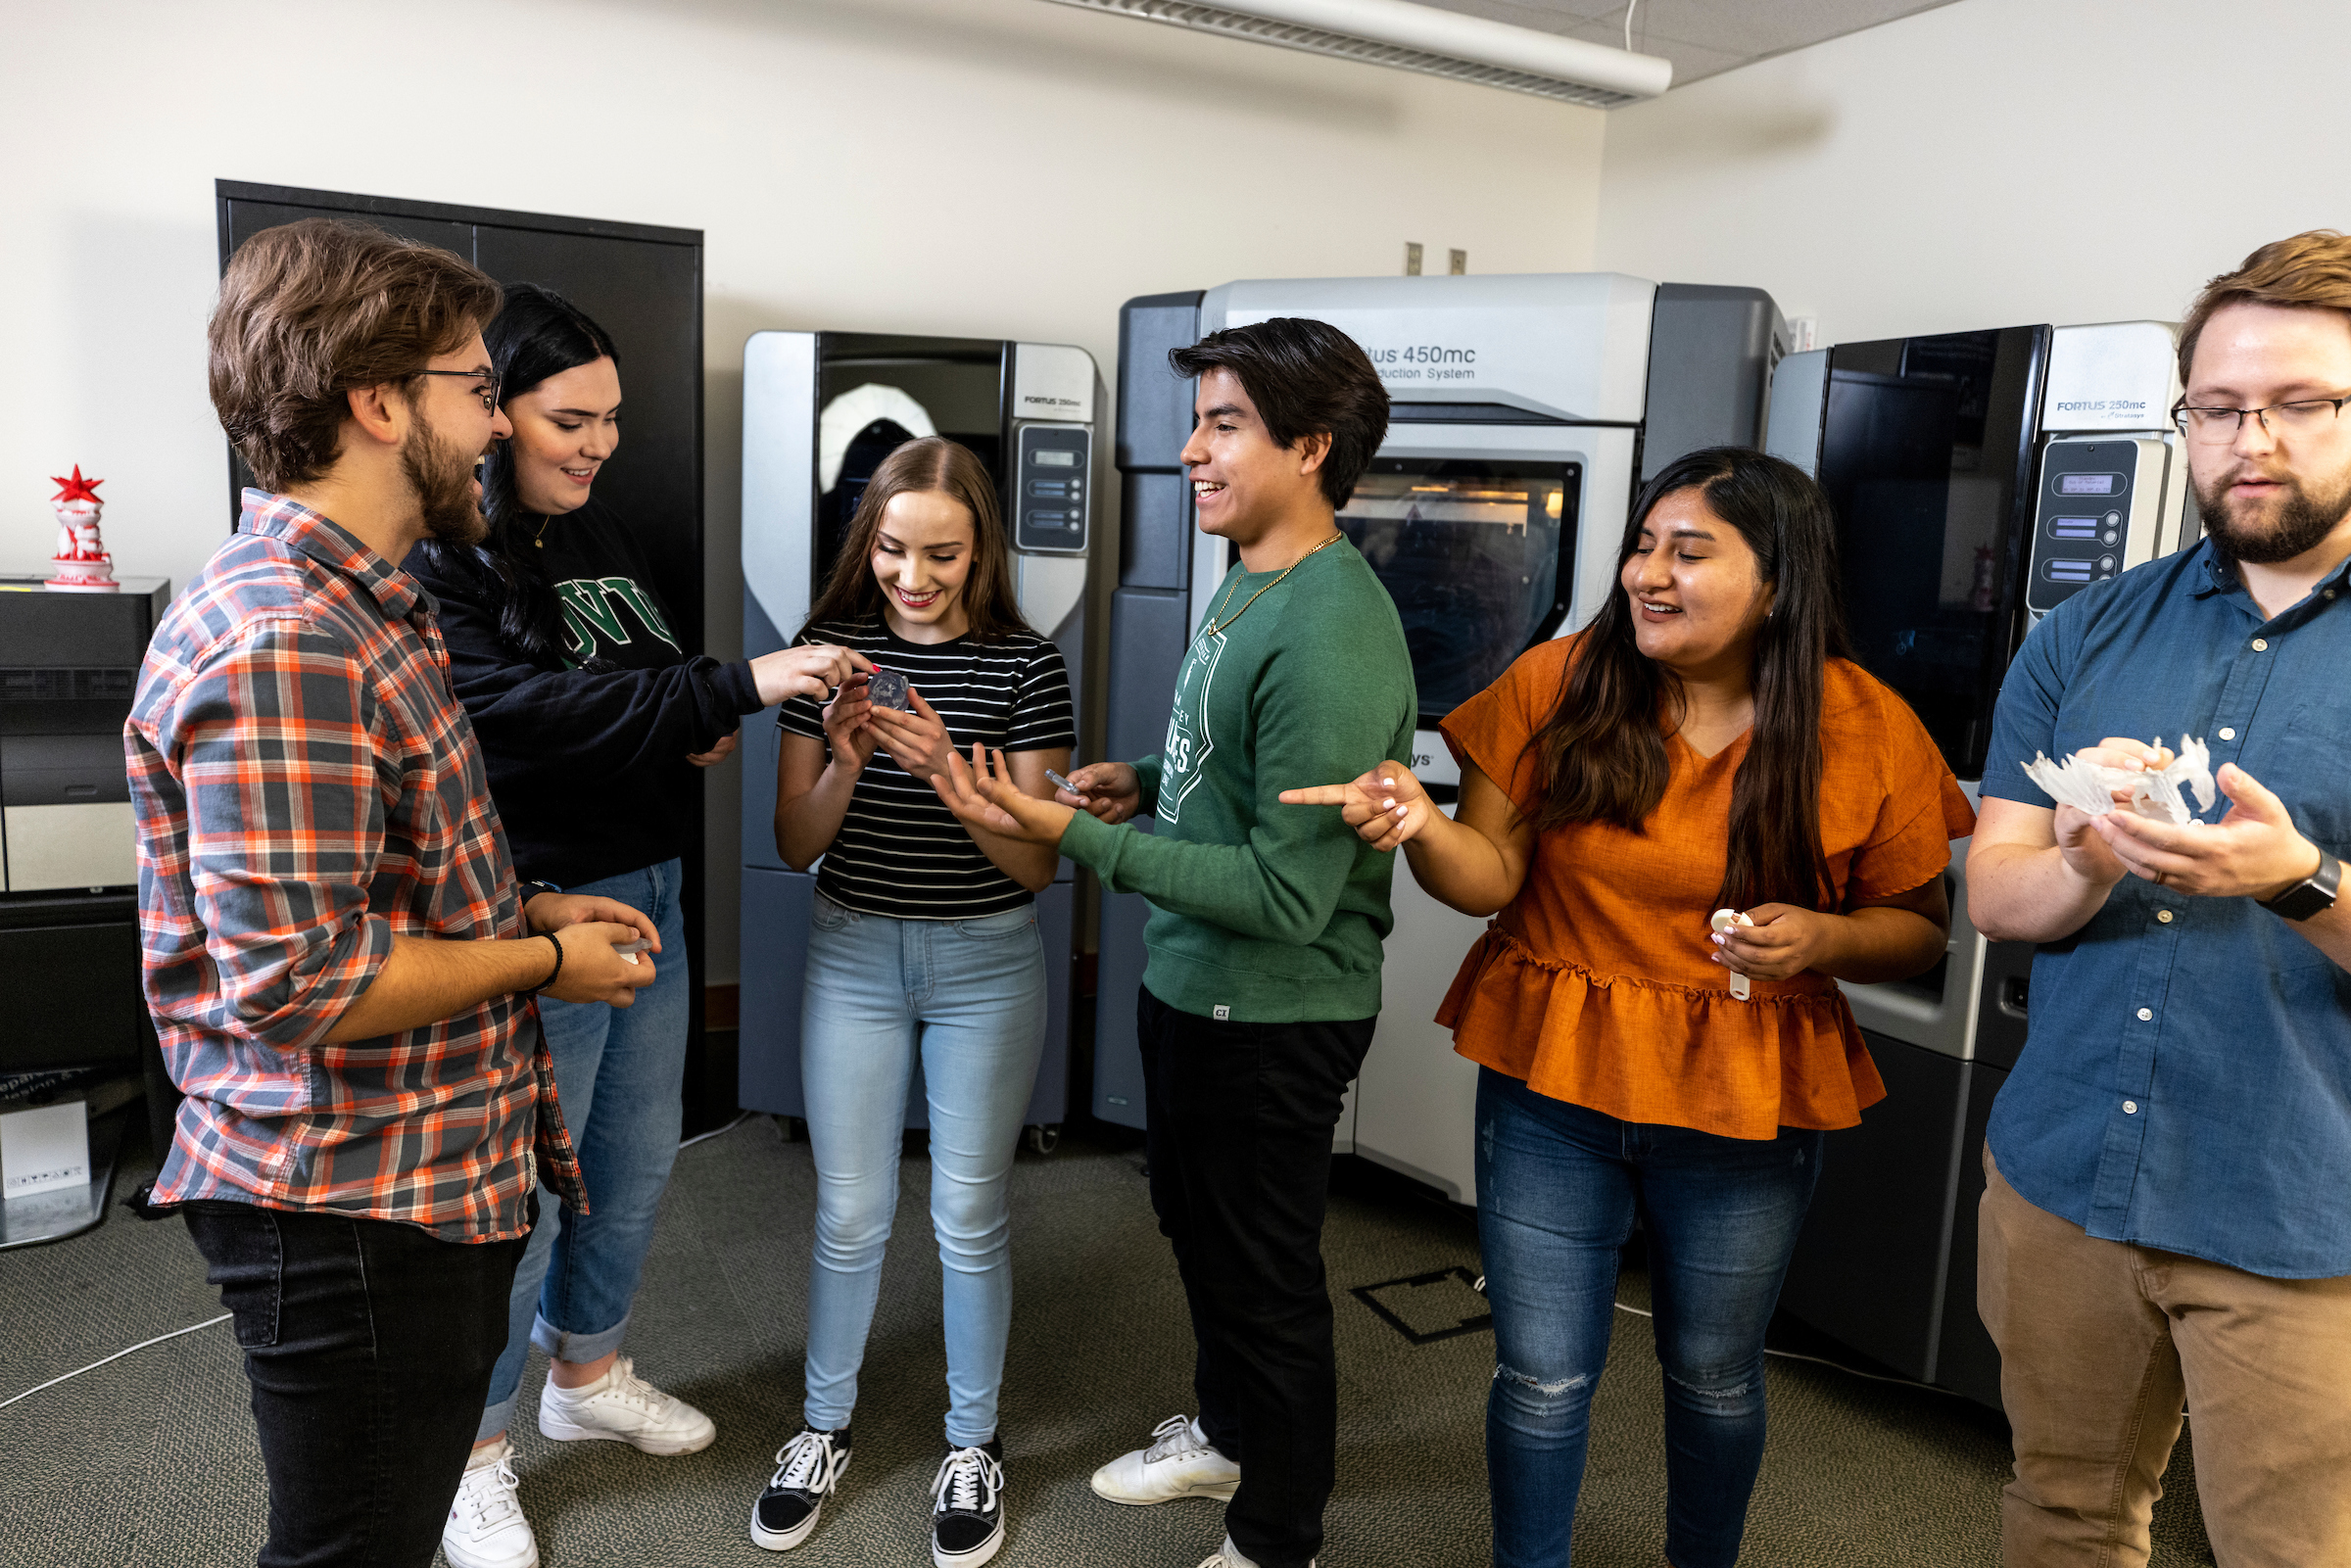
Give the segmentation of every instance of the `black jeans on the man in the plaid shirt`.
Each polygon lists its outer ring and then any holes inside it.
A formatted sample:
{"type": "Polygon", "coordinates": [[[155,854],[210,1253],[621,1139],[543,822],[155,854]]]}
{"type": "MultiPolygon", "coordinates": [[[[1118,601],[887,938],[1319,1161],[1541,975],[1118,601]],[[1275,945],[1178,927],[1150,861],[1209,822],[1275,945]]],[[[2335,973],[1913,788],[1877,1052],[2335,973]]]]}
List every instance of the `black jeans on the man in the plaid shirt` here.
{"type": "Polygon", "coordinates": [[[181,1208],[245,1347],[270,1474],[261,1568],[423,1568],[505,1349],[527,1237],[256,1204],[181,1208]]]}

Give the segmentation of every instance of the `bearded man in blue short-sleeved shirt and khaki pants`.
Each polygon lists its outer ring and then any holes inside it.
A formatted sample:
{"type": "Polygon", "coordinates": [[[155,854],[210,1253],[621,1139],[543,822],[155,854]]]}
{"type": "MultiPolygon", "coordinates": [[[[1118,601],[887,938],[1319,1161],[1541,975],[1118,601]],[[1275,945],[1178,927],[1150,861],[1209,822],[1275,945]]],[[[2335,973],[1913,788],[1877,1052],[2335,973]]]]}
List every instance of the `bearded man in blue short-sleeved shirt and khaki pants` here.
{"type": "Polygon", "coordinates": [[[2182,1399],[2219,1561],[2351,1563],[2351,240],[2215,277],[2179,362],[2208,538],[2034,628],[1968,856],[1977,929],[2041,943],[1980,1218],[2010,1566],[2144,1563],[2182,1399]],[[2217,820],[2024,778],[2182,731],[2217,820]]]}

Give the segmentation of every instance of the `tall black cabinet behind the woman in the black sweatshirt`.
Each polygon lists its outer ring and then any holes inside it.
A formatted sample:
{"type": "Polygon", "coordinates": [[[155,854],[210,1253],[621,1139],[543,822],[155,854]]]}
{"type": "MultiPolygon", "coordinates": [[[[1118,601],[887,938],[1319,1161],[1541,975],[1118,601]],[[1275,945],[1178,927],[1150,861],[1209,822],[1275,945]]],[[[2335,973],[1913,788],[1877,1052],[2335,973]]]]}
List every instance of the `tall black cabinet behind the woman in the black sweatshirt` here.
{"type": "MultiPolygon", "coordinates": [[[[651,223],[611,223],[538,212],[451,207],[339,190],[296,190],[214,181],[221,266],[263,228],[299,219],[355,219],[395,235],[428,240],[475,263],[498,282],[536,282],[592,315],[621,350],[625,425],[621,449],[597,475],[597,498],[635,534],[654,585],[677,621],[679,642],[703,649],[703,233],[651,223]]],[[[228,522],[252,475],[228,454],[228,522]]],[[[694,827],[684,853],[686,957],[708,976],[703,950],[703,799],[696,783],[694,827]]],[[[703,1060],[703,987],[691,992],[686,1056],[686,1126],[698,1131],[734,1114],[731,1074],[724,1103],[703,1103],[712,1074],[703,1060]]]]}

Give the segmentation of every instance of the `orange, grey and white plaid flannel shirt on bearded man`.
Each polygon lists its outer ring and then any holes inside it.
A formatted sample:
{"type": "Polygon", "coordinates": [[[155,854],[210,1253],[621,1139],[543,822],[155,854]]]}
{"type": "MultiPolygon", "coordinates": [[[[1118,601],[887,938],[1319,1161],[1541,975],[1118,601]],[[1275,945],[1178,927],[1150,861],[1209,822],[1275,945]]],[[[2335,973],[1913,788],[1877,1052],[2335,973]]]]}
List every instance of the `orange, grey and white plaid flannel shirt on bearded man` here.
{"type": "Polygon", "coordinates": [[[524,1234],[538,1178],[585,1206],[529,997],[324,1039],[393,936],[527,933],[433,611],[334,522],[249,489],[155,628],[125,748],[146,999],[188,1095],[155,1204],[444,1241],[524,1234]]]}

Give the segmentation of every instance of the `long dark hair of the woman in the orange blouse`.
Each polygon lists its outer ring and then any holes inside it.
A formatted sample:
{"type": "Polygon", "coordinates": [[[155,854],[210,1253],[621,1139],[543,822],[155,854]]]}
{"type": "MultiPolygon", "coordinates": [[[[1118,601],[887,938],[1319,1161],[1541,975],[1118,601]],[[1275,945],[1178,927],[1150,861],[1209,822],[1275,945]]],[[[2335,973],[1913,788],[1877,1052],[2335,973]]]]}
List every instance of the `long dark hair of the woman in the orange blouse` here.
{"type": "MultiPolygon", "coordinates": [[[[1756,552],[1773,609],[1756,630],[1756,719],[1730,785],[1730,860],[1716,900],[1747,910],[1815,910],[1827,891],[1820,856],[1820,693],[1829,658],[1846,658],[1836,517],[1801,468],[1747,447],[1707,447],[1672,461],[1641,491],[1617,548],[1617,578],[1660,501],[1695,489],[1756,552]]],[[[1528,741],[1542,806],[1535,827],[1615,823],[1641,830],[1665,799],[1660,717],[1681,708],[1681,682],[1634,644],[1620,583],[1582,635],[1559,708],[1528,741]]]]}

